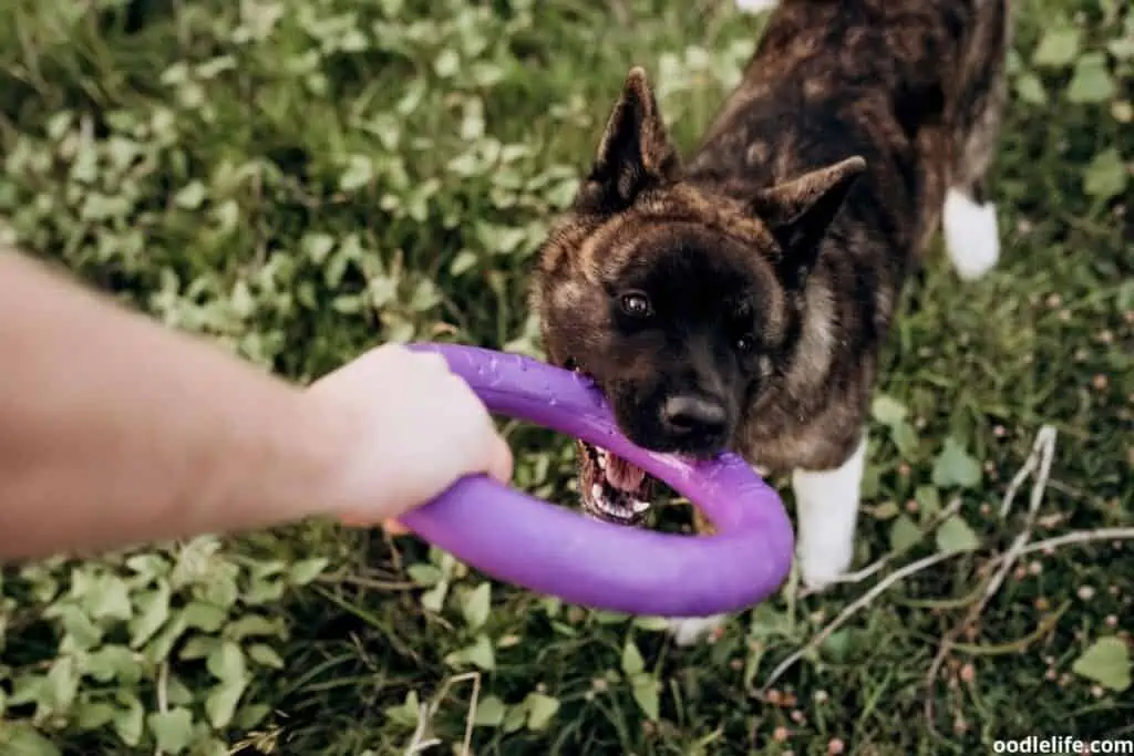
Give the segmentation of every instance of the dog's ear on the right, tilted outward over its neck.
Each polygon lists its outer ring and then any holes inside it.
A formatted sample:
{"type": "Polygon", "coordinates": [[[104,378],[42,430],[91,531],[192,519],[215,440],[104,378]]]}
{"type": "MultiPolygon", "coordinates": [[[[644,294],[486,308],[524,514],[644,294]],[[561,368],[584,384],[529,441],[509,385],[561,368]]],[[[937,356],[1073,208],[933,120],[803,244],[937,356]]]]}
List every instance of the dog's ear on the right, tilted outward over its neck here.
{"type": "Polygon", "coordinates": [[[750,210],[768,224],[779,244],[782,256],[778,264],[786,283],[804,283],[819,256],[819,243],[865,169],[862,158],[847,158],[761,189],[751,201],[750,210]]]}

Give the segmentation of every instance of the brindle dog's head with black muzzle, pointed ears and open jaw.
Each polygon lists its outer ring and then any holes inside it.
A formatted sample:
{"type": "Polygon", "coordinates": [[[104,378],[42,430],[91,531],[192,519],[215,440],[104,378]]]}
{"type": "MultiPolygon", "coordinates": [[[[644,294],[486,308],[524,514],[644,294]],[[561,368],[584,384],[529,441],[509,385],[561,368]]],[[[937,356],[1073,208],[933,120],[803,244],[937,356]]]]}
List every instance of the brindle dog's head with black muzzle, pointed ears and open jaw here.
{"type": "MultiPolygon", "coordinates": [[[[685,181],[645,74],[632,69],[541,252],[533,294],[549,358],[594,379],[637,445],[725,450],[797,338],[819,243],[863,165],[751,190],[685,181]]],[[[649,508],[642,472],[606,451],[581,443],[579,473],[590,513],[635,523],[649,508]]]]}

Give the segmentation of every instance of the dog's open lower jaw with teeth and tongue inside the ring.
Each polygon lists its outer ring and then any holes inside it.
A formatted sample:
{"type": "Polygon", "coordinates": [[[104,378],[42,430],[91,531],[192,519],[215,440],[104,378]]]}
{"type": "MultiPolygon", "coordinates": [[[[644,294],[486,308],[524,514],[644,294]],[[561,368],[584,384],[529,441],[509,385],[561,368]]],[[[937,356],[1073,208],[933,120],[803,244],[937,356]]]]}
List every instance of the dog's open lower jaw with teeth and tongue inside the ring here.
{"type": "Polygon", "coordinates": [[[618,525],[638,525],[650,511],[652,479],[625,459],[576,442],[583,510],[618,525]]]}

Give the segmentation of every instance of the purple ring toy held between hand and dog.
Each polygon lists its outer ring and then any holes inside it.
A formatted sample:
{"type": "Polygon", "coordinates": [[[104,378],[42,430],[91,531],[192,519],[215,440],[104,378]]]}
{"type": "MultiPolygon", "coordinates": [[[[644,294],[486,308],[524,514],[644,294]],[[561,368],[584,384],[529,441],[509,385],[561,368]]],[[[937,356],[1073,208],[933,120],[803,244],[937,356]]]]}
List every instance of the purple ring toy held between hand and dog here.
{"type": "Polygon", "coordinates": [[[688,462],[646,451],[618,431],[591,381],[522,355],[440,343],[409,348],[441,355],[491,411],[582,439],[641,467],[688,498],[717,529],[691,537],[601,523],[476,475],[401,517],[429,543],[491,577],[629,614],[739,611],[787,578],[790,521],[777,493],[738,456],[688,462]]]}

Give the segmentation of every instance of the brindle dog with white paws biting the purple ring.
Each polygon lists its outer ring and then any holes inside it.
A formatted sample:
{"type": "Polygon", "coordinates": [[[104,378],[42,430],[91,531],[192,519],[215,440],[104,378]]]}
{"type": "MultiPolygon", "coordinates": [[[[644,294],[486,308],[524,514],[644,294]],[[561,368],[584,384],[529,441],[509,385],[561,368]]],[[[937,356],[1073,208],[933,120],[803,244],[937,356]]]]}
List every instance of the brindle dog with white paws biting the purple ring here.
{"type": "MultiPolygon", "coordinates": [[[[539,252],[549,360],[593,379],[643,448],[733,450],[790,474],[813,591],[853,561],[871,393],[905,283],[939,230],[964,279],[999,257],[985,175],[1008,15],[1008,0],[784,0],[687,161],[631,69],[539,252]]],[[[577,465],[585,512],[641,525],[642,470],[582,442],[577,465]]],[[[721,620],[671,630],[689,644],[721,620]]]]}

